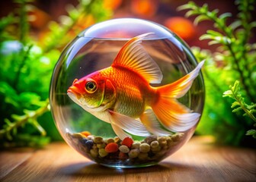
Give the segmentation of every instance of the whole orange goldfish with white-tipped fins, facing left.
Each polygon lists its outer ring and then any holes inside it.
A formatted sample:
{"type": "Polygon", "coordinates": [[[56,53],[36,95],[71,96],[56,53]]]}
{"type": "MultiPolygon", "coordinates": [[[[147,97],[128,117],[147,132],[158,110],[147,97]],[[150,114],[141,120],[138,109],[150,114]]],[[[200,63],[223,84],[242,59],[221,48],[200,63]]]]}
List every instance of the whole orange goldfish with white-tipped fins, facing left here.
{"type": "Polygon", "coordinates": [[[194,127],[200,114],[178,102],[200,73],[203,61],[189,74],[164,86],[158,64],[142,46],[152,33],[135,36],[123,45],[110,67],[76,78],[67,89],[73,102],[111,124],[117,137],[130,134],[166,136],[194,127]]]}

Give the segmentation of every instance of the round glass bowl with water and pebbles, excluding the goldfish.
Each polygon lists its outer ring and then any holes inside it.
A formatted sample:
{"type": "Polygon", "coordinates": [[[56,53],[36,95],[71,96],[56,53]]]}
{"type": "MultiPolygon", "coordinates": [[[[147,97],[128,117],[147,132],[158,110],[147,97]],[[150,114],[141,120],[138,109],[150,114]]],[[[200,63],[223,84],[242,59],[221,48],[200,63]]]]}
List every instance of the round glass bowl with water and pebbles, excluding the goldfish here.
{"type": "MultiPolygon", "coordinates": [[[[75,79],[110,67],[123,45],[144,33],[150,35],[145,36],[140,45],[163,75],[161,83],[150,83],[151,86],[172,83],[197,66],[186,43],[167,28],[148,20],[120,18],[95,24],[75,37],[62,52],[53,72],[50,105],[56,126],[69,146],[98,164],[114,168],[155,165],[180,149],[198,124],[197,121],[182,132],[169,130],[168,134],[146,137],[130,134],[130,138],[120,139],[110,123],[91,115],[69,98],[67,90],[75,79]]],[[[201,73],[178,102],[193,112],[202,113],[204,84],[201,73]]]]}

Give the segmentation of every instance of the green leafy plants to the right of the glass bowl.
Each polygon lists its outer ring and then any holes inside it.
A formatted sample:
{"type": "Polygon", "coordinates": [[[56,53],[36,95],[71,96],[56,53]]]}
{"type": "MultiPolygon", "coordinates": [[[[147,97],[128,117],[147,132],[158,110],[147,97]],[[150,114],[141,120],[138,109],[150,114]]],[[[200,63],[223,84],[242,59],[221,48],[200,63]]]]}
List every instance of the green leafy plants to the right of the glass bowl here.
{"type": "Polygon", "coordinates": [[[208,5],[200,7],[194,2],[188,2],[178,10],[188,10],[187,17],[196,16],[194,24],[212,21],[215,30],[207,30],[200,40],[209,39],[209,45],[218,46],[216,52],[193,49],[198,60],[206,59],[203,70],[206,108],[198,132],[213,134],[219,143],[251,145],[251,142],[246,143],[250,139],[245,133],[248,130],[247,134],[255,136],[255,130],[249,130],[254,122],[256,102],[256,44],[250,42],[256,27],[256,22],[251,20],[255,0],[239,0],[235,4],[239,11],[236,17],[228,12],[218,14],[218,9],[210,11],[208,5]],[[227,23],[229,17],[235,19],[231,24],[227,23]],[[233,83],[235,85],[229,89],[233,83]],[[222,99],[223,93],[235,102],[222,99]],[[242,117],[242,111],[249,118],[242,117]]]}

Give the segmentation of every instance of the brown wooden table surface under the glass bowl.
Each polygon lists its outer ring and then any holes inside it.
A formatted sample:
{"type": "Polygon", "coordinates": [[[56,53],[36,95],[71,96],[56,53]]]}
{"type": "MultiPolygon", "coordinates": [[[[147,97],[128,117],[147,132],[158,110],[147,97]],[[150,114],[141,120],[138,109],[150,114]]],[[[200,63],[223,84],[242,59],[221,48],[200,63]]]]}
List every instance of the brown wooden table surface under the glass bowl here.
{"type": "Polygon", "coordinates": [[[51,143],[0,152],[0,181],[256,181],[256,151],[194,137],[158,165],[114,169],[90,162],[66,143],[51,143]]]}

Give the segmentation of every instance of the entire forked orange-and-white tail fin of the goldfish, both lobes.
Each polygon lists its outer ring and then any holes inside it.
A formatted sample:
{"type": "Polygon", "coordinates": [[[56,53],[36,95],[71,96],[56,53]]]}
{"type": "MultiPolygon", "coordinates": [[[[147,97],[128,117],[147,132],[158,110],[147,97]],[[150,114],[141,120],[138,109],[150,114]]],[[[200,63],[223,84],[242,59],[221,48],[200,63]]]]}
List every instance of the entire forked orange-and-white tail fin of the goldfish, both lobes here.
{"type": "Polygon", "coordinates": [[[182,105],[177,99],[187,93],[202,66],[203,61],[190,74],[174,83],[157,88],[159,97],[155,104],[152,105],[152,109],[158,121],[168,130],[182,132],[194,127],[197,121],[199,121],[200,114],[193,113],[190,108],[182,105]]]}

